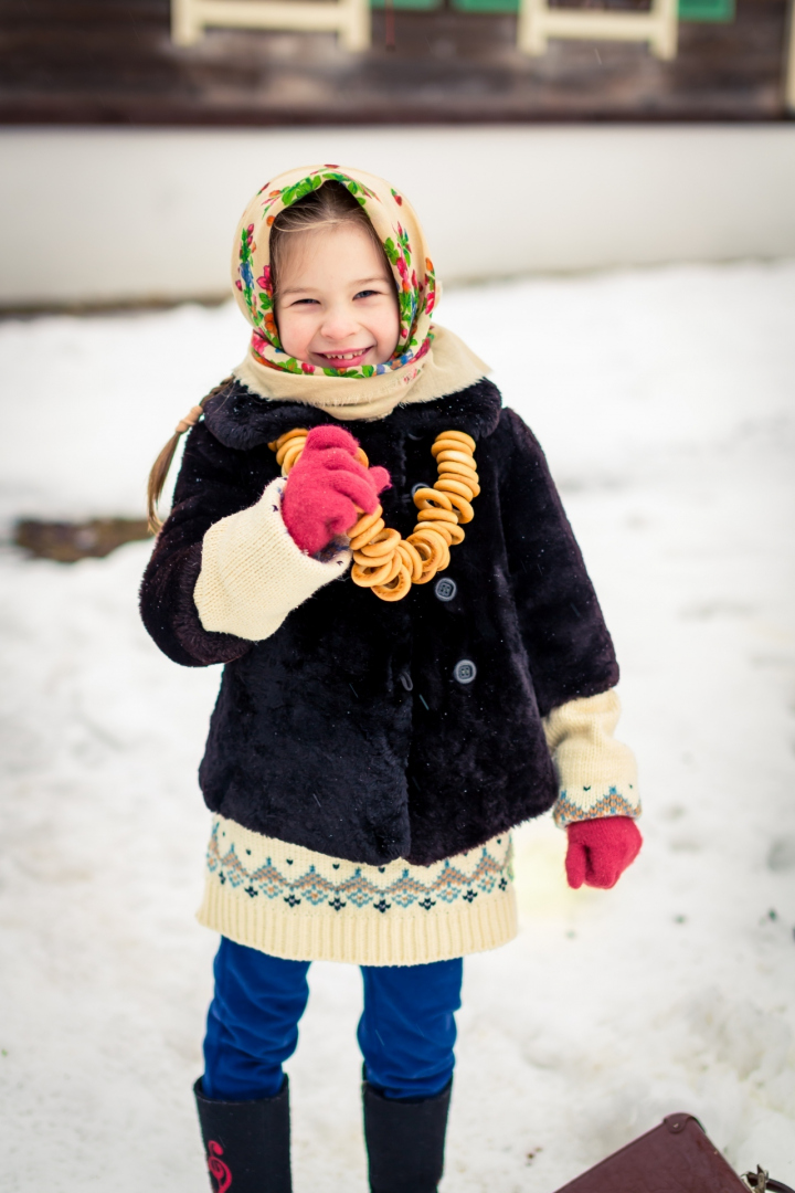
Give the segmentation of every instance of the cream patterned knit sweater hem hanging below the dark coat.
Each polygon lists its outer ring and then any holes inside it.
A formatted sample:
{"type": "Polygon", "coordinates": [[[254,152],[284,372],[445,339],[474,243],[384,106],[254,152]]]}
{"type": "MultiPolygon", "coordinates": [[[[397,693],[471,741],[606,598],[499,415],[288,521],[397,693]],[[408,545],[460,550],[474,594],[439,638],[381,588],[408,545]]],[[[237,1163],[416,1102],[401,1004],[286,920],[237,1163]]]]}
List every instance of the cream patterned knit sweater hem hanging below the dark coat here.
{"type": "Polygon", "coordinates": [[[330,858],[215,816],[199,921],[290,960],[420,965],[516,935],[510,834],[431,866],[330,858]]]}

